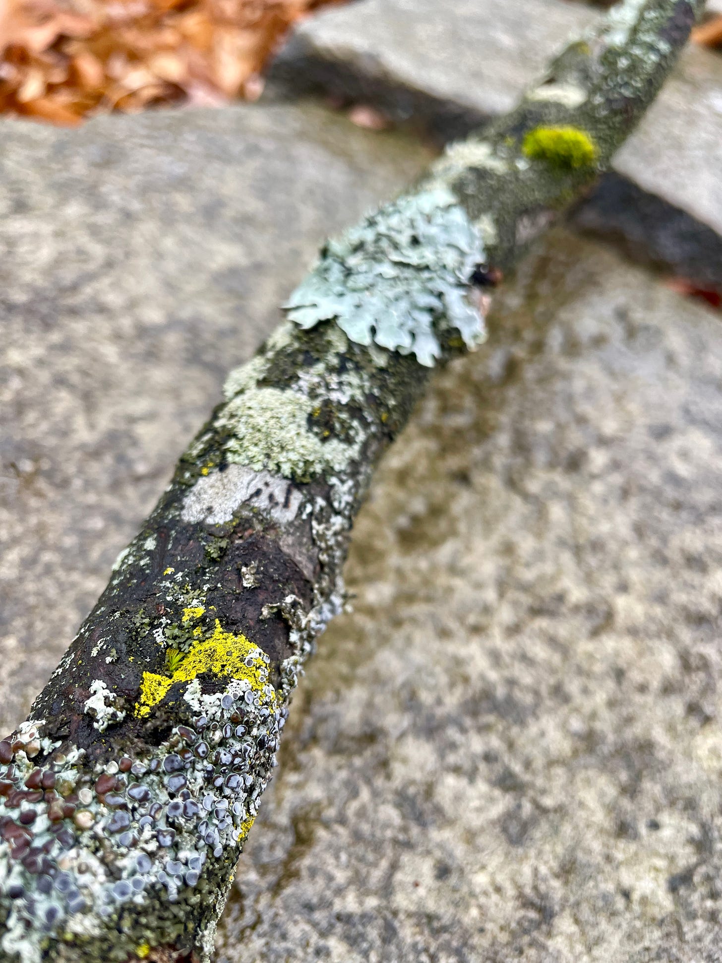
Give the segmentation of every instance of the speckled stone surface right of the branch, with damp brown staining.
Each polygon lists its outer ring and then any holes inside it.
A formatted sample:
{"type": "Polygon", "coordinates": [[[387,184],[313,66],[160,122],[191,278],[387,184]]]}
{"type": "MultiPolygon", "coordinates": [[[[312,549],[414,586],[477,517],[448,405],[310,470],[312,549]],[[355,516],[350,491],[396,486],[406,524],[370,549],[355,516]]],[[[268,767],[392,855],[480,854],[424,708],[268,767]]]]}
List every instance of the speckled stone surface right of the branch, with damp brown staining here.
{"type": "Polygon", "coordinates": [[[722,328],[558,233],[359,518],[218,963],[718,963],[722,328]]]}

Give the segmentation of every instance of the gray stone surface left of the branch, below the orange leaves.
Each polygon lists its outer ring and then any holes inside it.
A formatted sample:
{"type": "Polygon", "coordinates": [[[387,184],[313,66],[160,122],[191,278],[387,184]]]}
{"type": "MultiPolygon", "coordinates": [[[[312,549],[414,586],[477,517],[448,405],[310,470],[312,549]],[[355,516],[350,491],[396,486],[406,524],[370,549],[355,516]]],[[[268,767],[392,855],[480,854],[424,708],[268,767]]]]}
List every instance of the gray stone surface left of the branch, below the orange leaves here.
{"type": "Polygon", "coordinates": [[[425,162],[314,107],[0,124],[0,728],[330,230],[425,162]]]}

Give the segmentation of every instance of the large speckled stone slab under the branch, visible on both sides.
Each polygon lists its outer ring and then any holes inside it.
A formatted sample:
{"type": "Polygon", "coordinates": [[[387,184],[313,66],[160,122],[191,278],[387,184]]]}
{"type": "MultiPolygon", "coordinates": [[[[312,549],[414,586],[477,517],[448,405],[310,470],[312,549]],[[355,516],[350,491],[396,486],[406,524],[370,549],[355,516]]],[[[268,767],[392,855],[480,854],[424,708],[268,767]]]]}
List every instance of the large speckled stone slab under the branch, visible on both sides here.
{"type": "MultiPolygon", "coordinates": [[[[321,235],[420,157],[280,107],[4,134],[10,728],[321,235]]],[[[218,963],[722,960],[719,320],[561,231],[490,320],[359,519],[218,963]]]]}

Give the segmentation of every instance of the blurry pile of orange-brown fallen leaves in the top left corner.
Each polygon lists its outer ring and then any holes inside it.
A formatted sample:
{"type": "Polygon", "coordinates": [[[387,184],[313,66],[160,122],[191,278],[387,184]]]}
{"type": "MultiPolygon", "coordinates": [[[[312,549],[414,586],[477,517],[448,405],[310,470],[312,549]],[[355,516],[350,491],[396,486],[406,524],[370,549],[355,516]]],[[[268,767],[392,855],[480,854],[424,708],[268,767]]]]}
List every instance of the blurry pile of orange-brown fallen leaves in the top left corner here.
{"type": "Polygon", "coordinates": [[[257,99],[289,27],[342,0],[0,0],[0,113],[58,124],[109,110],[257,99]]]}

